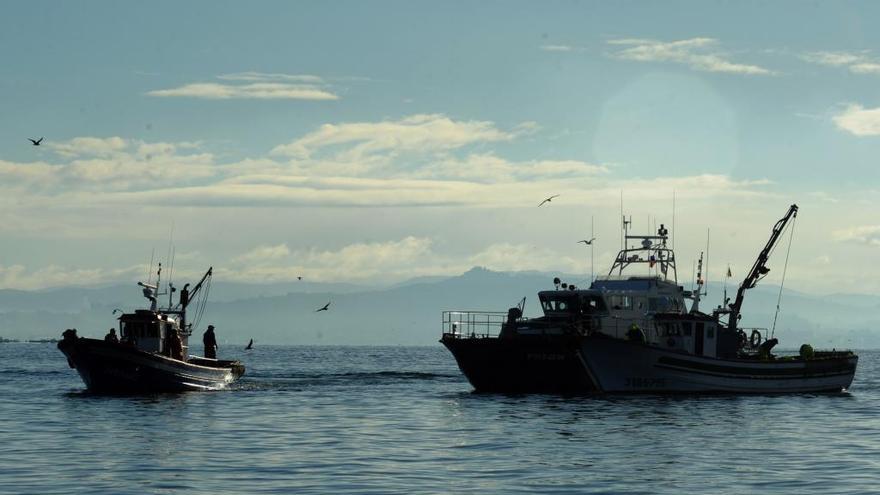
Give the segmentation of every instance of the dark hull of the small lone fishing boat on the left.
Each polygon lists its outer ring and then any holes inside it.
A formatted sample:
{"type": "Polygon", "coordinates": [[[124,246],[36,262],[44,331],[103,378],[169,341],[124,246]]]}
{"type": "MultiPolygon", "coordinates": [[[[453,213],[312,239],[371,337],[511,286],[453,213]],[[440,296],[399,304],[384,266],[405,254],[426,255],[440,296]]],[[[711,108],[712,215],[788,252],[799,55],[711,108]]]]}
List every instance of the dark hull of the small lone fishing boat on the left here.
{"type": "Polygon", "coordinates": [[[244,374],[238,361],[192,358],[183,362],[95,339],[65,339],[58,348],[89,392],[100,394],[219,390],[244,374]]]}

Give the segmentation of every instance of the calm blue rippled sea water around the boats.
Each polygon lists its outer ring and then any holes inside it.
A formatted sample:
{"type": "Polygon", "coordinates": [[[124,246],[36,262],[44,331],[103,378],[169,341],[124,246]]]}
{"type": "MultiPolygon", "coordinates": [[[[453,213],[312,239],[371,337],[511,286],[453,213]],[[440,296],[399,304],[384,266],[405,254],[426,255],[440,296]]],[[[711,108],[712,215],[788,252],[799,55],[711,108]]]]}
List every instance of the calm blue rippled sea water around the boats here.
{"type": "Polygon", "coordinates": [[[474,394],[439,344],[221,357],[233,390],[95,397],[0,344],[0,493],[880,491],[878,352],[849,393],[759,397],[474,394]]]}

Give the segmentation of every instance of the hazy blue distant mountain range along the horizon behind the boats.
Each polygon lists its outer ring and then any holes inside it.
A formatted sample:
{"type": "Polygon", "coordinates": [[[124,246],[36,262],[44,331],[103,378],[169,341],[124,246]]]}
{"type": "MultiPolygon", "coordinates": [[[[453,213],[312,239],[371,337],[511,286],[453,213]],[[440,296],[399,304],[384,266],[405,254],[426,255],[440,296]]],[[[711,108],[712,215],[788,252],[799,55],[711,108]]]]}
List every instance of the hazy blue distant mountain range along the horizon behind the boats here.
{"type": "MultiPolygon", "coordinates": [[[[440,337],[443,310],[506,311],[527,298],[526,316],[540,314],[537,292],[552,289],[557,274],[494,272],[473,268],[454,277],[413,279],[391,287],[290,282],[214,283],[199,332],[211,323],[221,342],[263,344],[430,345],[440,337]],[[328,301],[329,311],[316,313],[328,301]]],[[[562,276],[581,287],[583,276],[562,276]]],[[[728,286],[729,296],[736,287],[728,286]]],[[[746,294],[742,326],[769,327],[778,287],[746,294]]],[[[711,284],[702,309],[717,306],[720,284],[711,284]]],[[[100,337],[116,326],[112,311],[144,307],[134,285],[0,290],[0,337],[54,338],[65,328],[100,337]]],[[[786,289],[776,325],[781,346],[880,347],[880,296],[816,296],[786,289]]]]}

